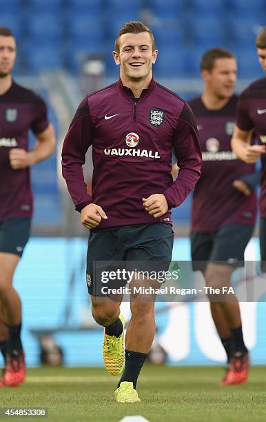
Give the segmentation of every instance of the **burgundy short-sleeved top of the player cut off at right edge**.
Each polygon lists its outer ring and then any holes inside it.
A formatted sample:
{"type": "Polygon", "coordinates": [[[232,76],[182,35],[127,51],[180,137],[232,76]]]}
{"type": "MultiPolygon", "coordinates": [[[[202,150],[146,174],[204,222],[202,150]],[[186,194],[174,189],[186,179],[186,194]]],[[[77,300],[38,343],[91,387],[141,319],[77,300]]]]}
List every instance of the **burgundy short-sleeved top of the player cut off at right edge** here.
{"type": "MultiPolygon", "coordinates": [[[[266,145],[266,78],[249,85],[238,102],[236,124],[241,130],[254,129],[260,143],[266,145]]],[[[261,156],[260,216],[266,218],[266,154],[261,156]]]]}

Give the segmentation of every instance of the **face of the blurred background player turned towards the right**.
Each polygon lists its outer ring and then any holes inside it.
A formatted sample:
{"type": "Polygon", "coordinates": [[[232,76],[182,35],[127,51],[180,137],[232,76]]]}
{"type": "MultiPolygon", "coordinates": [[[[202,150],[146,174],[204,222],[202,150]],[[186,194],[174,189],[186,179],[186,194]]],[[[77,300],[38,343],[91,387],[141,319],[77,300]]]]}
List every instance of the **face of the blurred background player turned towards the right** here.
{"type": "Polygon", "coordinates": [[[232,97],[236,85],[236,59],[215,59],[212,70],[203,70],[202,77],[207,90],[219,99],[232,97]]]}

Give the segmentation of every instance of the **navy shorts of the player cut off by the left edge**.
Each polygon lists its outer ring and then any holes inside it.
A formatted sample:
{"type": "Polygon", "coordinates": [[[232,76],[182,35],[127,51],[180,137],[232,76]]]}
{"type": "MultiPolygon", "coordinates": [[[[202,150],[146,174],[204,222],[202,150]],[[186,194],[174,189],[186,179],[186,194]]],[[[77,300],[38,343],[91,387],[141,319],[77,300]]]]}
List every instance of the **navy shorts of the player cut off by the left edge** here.
{"type": "Polygon", "coordinates": [[[0,252],[22,256],[30,237],[30,217],[0,221],[0,252]]]}

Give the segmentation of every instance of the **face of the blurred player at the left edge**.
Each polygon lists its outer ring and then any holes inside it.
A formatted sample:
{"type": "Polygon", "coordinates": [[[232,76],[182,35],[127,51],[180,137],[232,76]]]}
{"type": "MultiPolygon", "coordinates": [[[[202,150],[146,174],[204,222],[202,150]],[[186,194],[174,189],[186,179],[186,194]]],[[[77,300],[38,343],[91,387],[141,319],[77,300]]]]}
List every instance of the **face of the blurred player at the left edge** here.
{"type": "Polygon", "coordinates": [[[16,41],[14,37],[0,35],[0,78],[8,76],[16,59],[16,41]]]}

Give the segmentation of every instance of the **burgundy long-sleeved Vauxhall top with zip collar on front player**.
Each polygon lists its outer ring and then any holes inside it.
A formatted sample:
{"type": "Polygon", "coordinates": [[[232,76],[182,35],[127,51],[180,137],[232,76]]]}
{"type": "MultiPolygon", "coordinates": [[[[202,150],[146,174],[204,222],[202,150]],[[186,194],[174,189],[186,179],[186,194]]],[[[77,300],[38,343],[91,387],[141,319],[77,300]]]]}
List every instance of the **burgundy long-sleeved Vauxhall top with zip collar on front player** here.
{"type": "Polygon", "coordinates": [[[163,193],[170,209],[193,190],[200,176],[201,149],[192,110],[154,79],[139,99],[118,81],[83,99],[65,137],[62,165],[76,210],[93,202],[108,215],[97,229],[171,224],[170,211],[155,219],[141,199],[163,193]],[[81,167],[90,145],[92,198],[81,167]],[[181,168],[174,182],[173,147],[181,168]]]}

